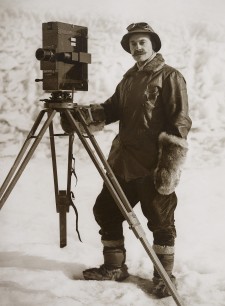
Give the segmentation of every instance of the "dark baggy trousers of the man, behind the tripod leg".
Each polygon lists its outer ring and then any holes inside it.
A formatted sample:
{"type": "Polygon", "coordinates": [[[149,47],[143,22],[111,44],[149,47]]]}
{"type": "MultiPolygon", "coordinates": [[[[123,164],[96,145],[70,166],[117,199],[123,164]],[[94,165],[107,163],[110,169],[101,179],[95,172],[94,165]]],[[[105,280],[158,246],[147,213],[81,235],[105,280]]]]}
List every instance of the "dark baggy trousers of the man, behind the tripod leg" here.
{"type": "MultiPolygon", "coordinates": [[[[147,218],[147,226],[153,233],[154,244],[174,246],[176,228],[174,212],[177,206],[175,192],[161,195],[155,189],[151,176],[124,181],[117,177],[132,208],[140,202],[142,212],[147,218]]],[[[123,222],[125,220],[108,188],[103,184],[93,207],[95,220],[100,226],[100,235],[104,241],[124,239],[123,222]]]]}

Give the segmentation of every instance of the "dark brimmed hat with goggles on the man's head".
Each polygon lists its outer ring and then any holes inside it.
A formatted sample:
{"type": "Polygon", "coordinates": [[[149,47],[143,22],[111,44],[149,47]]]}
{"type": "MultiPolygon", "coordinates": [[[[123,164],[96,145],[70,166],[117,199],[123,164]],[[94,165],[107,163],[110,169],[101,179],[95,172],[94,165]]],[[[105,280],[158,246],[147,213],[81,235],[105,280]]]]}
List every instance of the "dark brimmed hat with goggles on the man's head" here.
{"type": "Polygon", "coordinates": [[[146,33],[149,34],[151,41],[153,42],[153,50],[155,52],[158,52],[161,48],[161,40],[154,32],[154,30],[148,25],[146,22],[139,22],[139,23],[132,23],[127,27],[128,33],[125,34],[121,40],[121,45],[124,48],[125,51],[130,53],[130,45],[129,45],[129,39],[130,36],[135,33],[146,33]]]}

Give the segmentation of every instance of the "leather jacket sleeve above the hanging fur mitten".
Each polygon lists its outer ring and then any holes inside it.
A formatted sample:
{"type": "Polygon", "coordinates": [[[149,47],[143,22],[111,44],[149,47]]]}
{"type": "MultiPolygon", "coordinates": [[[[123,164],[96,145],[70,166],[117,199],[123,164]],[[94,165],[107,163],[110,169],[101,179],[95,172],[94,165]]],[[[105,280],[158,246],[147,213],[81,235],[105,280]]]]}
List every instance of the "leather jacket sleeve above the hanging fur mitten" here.
{"type": "Polygon", "coordinates": [[[162,88],[162,98],[166,117],[165,132],[187,138],[192,122],[188,114],[186,82],[181,73],[175,70],[169,74],[162,88]]]}

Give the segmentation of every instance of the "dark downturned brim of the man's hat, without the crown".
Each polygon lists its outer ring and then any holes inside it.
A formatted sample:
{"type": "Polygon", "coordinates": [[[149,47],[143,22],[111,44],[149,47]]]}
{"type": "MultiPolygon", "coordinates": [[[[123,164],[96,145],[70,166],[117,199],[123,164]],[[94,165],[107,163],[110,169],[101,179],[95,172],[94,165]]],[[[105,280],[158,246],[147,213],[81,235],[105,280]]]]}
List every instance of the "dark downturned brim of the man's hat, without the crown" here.
{"type": "Polygon", "coordinates": [[[158,36],[158,34],[156,34],[155,32],[149,32],[148,30],[133,30],[132,32],[129,32],[127,34],[125,34],[121,40],[121,45],[123,47],[123,49],[125,51],[127,51],[128,53],[130,52],[130,44],[129,44],[129,39],[131,37],[131,35],[133,34],[138,34],[138,33],[145,33],[148,34],[150,36],[150,39],[154,41],[155,43],[155,47],[154,47],[154,51],[158,52],[161,49],[161,40],[158,36]]]}

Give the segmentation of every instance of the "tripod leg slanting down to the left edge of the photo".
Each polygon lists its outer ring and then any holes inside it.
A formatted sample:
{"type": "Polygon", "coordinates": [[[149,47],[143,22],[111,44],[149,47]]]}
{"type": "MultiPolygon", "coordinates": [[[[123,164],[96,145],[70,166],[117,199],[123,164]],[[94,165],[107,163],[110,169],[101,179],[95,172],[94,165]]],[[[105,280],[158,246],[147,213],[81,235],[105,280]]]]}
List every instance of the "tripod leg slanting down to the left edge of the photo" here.
{"type": "MultiPolygon", "coordinates": [[[[45,111],[44,111],[45,112],[45,111]]],[[[17,170],[15,176],[13,177],[13,174],[15,173],[16,168],[18,167],[18,162],[21,161],[24,153],[25,153],[25,149],[27,149],[27,144],[24,145],[24,147],[22,148],[21,152],[20,152],[20,156],[17,158],[17,162],[16,162],[16,166],[15,169],[13,168],[11,170],[11,174],[10,174],[10,179],[12,178],[10,184],[7,186],[6,188],[6,184],[4,186],[5,189],[5,193],[3,192],[1,200],[0,200],[0,209],[2,208],[2,206],[4,205],[5,201],[7,200],[8,196],[10,195],[11,191],[13,190],[13,188],[15,187],[18,179],[20,178],[21,174],[23,173],[24,169],[26,168],[29,160],[31,159],[34,151],[36,150],[38,144],[40,143],[42,137],[44,136],[47,128],[49,127],[51,121],[53,120],[54,116],[56,114],[56,110],[50,110],[49,111],[49,117],[47,118],[47,120],[45,121],[44,125],[42,126],[40,132],[38,133],[38,135],[35,137],[35,141],[33,143],[33,145],[31,146],[31,148],[29,149],[27,155],[25,156],[24,160],[22,161],[19,169],[17,170]]],[[[33,126],[33,131],[35,131],[41,121],[43,117],[43,113],[40,114],[40,116],[38,117],[37,122],[35,123],[35,125],[33,126]]],[[[33,131],[31,132],[31,134],[33,133],[33,131]]],[[[9,178],[7,179],[7,183],[9,182],[9,178]]]]}

